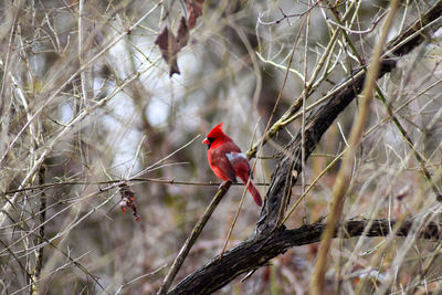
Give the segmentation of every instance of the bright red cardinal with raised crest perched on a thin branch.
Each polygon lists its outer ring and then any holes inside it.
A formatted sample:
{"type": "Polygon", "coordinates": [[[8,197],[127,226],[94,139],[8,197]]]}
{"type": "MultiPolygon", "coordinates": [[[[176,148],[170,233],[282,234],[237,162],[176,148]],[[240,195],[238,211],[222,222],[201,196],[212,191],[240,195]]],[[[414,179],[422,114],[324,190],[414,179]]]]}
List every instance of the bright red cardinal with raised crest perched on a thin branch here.
{"type": "MultiPolygon", "coordinates": [[[[202,143],[208,145],[210,168],[221,180],[236,182],[236,177],[239,177],[244,185],[248,185],[251,175],[248,158],[241,154],[241,149],[232,138],[224,134],[222,123],[214,127],[202,143]]],[[[248,189],[255,203],[261,207],[261,194],[252,180],[250,180],[248,189]]]]}

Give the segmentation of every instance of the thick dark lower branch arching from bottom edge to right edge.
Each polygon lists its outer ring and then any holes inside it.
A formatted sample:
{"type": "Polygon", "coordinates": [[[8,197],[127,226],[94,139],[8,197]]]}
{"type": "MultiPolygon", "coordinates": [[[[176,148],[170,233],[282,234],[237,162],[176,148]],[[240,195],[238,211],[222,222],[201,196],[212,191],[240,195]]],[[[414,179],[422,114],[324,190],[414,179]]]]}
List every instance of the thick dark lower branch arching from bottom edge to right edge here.
{"type": "MultiPolygon", "coordinates": [[[[388,220],[350,220],[341,229],[341,238],[387,236],[394,229],[398,221],[388,220]],[[370,225],[371,223],[371,225],[370,225]],[[370,225],[367,230],[366,226],[370,225]]],[[[428,240],[439,240],[442,235],[441,226],[429,223],[419,229],[419,224],[404,221],[398,224],[394,234],[408,236],[418,231],[418,236],[428,240]]],[[[259,235],[255,239],[242,242],[224,253],[222,260],[214,257],[210,263],[182,280],[168,294],[210,294],[230,282],[233,277],[248,273],[269,263],[270,260],[285,253],[293,246],[319,242],[325,223],[301,226],[296,230],[277,230],[270,235],[259,235]]],[[[335,233],[336,236],[336,233],[335,233]]]]}

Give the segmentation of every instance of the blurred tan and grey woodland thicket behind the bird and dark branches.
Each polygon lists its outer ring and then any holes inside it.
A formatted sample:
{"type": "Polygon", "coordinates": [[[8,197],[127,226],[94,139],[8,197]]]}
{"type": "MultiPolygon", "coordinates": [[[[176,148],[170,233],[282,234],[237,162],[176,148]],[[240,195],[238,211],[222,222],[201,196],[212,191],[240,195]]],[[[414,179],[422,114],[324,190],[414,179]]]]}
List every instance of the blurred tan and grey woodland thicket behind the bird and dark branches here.
{"type": "MultiPolygon", "coordinates": [[[[180,74],[169,77],[170,64],[155,42],[166,25],[177,32],[191,2],[0,2],[0,293],[158,289],[220,183],[201,144],[206,134],[223,122],[245,152],[298,97],[314,109],[369,61],[390,1],[194,1],[202,14],[178,52],[180,74]],[[122,214],[123,183],[134,192],[138,217],[130,202],[122,214]]],[[[401,1],[389,40],[434,3],[401,1]]],[[[378,81],[421,161],[376,96],[343,219],[439,222],[440,42],[441,31],[378,81]]],[[[292,203],[345,149],[356,113],[354,102],[324,135],[292,203]]],[[[292,116],[252,160],[263,196],[273,156],[302,123],[303,116],[292,116]]],[[[328,212],[338,168],[315,183],[287,228],[328,212]]],[[[176,282],[220,253],[242,191],[229,190],[176,282]]],[[[252,234],[259,213],[246,196],[229,247],[252,234]]],[[[372,292],[438,291],[438,244],[415,236],[385,241],[335,240],[327,289],[352,294],[361,277],[372,276],[372,292]]],[[[292,249],[219,294],[306,294],[317,250],[292,249]]]]}

